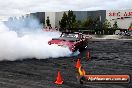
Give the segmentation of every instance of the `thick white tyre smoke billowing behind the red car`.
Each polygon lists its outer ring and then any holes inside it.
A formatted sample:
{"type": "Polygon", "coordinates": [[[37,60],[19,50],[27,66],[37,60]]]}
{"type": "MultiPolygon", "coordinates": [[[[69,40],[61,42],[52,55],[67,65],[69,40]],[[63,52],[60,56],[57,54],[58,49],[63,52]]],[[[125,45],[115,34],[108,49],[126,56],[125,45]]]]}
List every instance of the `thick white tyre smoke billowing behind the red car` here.
{"type": "MultiPolygon", "coordinates": [[[[20,29],[24,29],[20,27],[20,29]]],[[[68,48],[57,45],[48,45],[53,37],[59,37],[59,32],[23,31],[19,37],[18,32],[10,30],[0,23],[0,60],[17,60],[26,58],[56,58],[71,54],[68,48]]],[[[36,29],[37,30],[37,29],[36,29]]],[[[20,31],[19,31],[20,32],[20,31]]]]}

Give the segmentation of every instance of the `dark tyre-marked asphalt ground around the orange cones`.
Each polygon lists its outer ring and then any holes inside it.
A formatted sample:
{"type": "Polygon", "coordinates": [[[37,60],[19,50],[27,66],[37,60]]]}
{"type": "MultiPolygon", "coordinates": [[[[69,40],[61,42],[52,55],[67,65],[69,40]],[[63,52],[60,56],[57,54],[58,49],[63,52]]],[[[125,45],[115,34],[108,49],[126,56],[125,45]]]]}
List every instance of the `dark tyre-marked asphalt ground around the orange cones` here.
{"type": "Polygon", "coordinates": [[[79,84],[75,69],[78,58],[86,74],[132,75],[132,40],[91,40],[88,48],[75,57],[1,61],[0,88],[132,88],[132,83],[79,84]],[[88,61],[87,51],[91,53],[88,61]],[[54,83],[58,70],[62,85],[54,83]]]}

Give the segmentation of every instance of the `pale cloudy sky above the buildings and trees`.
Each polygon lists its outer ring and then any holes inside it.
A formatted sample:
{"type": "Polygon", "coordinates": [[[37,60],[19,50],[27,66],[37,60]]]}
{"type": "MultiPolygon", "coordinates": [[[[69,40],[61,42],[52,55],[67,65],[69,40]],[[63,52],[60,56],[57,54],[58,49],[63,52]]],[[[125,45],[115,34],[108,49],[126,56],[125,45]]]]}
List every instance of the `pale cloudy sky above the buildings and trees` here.
{"type": "Polygon", "coordinates": [[[0,20],[32,12],[132,9],[132,0],[0,0],[0,20]]]}

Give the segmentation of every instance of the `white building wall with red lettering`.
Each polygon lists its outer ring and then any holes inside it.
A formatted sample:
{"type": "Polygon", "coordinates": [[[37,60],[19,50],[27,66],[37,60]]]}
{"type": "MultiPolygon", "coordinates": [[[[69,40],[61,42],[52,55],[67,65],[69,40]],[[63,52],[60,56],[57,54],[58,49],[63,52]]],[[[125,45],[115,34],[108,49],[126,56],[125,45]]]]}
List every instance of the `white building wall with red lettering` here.
{"type": "Polygon", "coordinates": [[[119,28],[128,29],[132,23],[132,10],[106,10],[106,19],[111,25],[117,21],[119,28]]]}

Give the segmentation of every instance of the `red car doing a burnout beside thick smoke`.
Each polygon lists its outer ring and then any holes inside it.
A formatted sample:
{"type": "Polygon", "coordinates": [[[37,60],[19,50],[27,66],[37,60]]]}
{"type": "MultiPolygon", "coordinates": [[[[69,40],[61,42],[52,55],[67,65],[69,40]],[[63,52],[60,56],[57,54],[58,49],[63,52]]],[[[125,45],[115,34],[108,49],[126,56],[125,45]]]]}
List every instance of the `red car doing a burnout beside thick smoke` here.
{"type": "Polygon", "coordinates": [[[62,32],[59,38],[53,38],[48,42],[49,45],[57,44],[61,47],[68,47],[75,52],[87,47],[89,37],[79,32],[62,32]]]}

